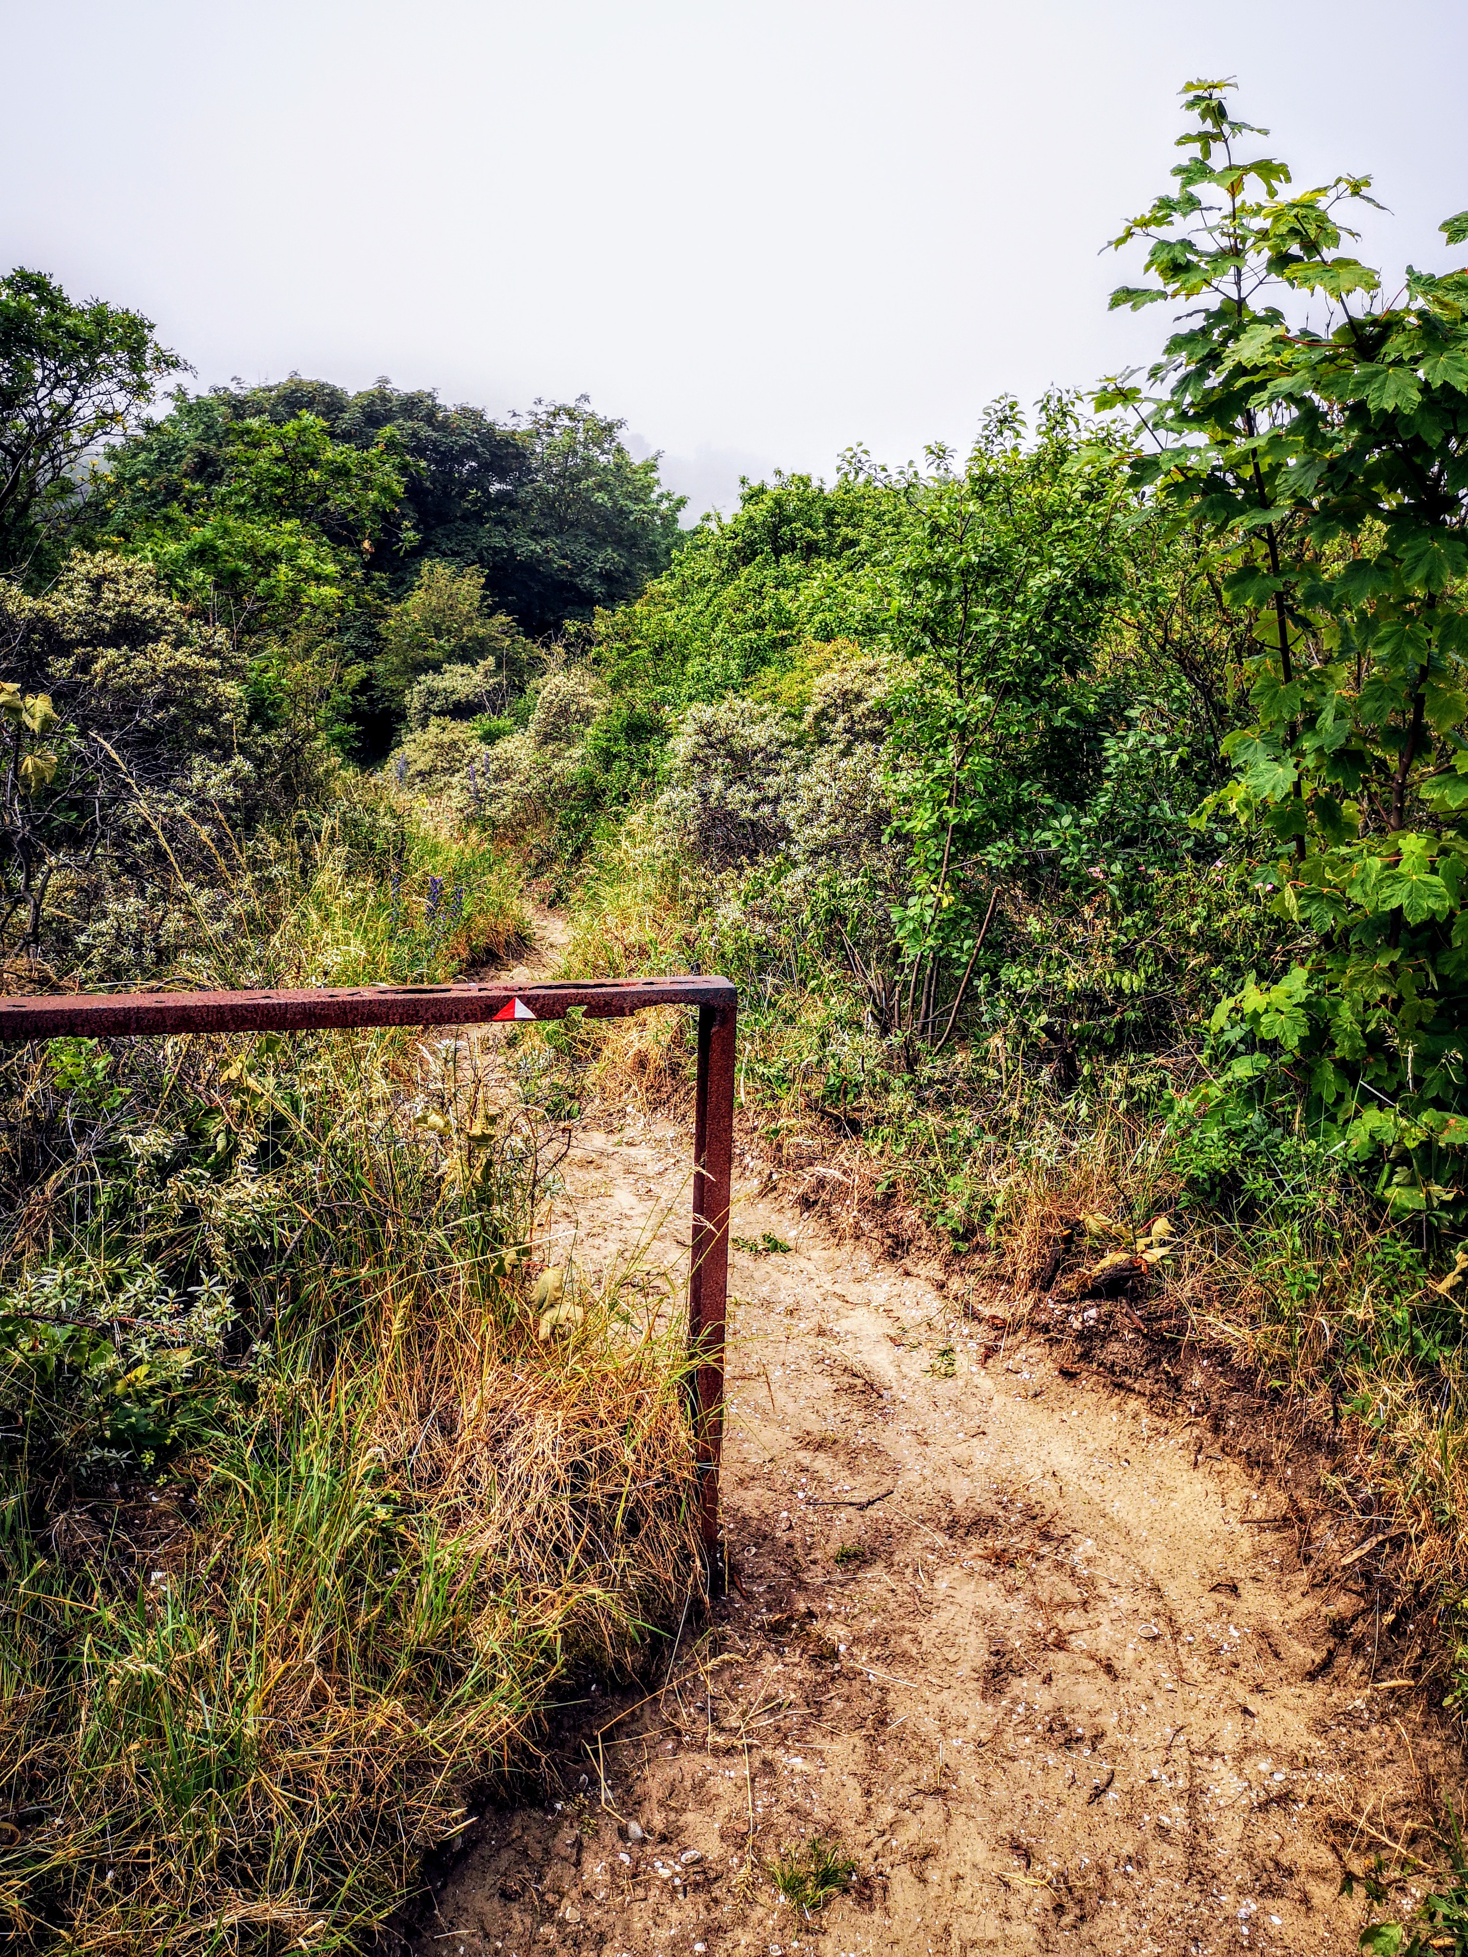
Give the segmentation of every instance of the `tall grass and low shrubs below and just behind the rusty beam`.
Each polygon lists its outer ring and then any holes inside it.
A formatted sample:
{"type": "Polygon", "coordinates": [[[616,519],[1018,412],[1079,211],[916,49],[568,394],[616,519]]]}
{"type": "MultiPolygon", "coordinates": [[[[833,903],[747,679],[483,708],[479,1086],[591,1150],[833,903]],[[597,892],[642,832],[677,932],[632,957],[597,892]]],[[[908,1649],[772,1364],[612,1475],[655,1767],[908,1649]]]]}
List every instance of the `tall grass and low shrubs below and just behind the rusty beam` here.
{"type": "MultiPolygon", "coordinates": [[[[192,982],[438,978],[523,930],[482,845],[378,802],[274,847],[192,982]]],[[[681,1352],[591,1278],[536,1337],[544,1115],[491,1039],[0,1063],[10,1947],[356,1947],[552,1683],[697,1579],[681,1352]]]]}

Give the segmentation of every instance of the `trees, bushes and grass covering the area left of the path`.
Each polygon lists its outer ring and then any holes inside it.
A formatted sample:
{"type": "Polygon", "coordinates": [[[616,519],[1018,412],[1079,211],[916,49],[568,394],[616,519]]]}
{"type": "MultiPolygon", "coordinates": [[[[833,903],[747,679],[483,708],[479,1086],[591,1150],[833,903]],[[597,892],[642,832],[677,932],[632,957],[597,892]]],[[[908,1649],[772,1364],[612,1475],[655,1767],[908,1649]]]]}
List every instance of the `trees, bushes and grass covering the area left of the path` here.
{"type": "MultiPolygon", "coordinates": [[[[6,988],[503,959],[513,871],[343,751],[579,726],[503,605],[634,591],[656,466],[585,405],[329,389],[180,395],[98,454],[176,362],[33,274],[4,305],[6,988]]],[[[683,1354],[583,1305],[573,1372],[536,1339],[544,1114],[493,1086],[411,1031],[0,1055],[6,1947],[360,1947],[552,1681],[683,1599],[683,1354]]]]}

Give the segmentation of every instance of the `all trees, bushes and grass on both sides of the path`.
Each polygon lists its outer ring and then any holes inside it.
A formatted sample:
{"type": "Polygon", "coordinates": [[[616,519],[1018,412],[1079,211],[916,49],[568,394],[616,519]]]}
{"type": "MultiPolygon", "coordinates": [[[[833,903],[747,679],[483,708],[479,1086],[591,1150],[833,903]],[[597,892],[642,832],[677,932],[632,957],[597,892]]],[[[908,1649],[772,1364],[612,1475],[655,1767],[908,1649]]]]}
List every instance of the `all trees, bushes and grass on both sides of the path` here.
{"type": "MultiPolygon", "coordinates": [[[[1227,104],[1116,241],[1153,366],[691,530],[587,401],[149,415],[149,321],[10,274],[4,980],[448,978],[528,900],[568,975],[728,973],[842,1227],[1016,1294],[1110,1251],[1354,1423],[1456,1703],[1468,274],[1388,296],[1366,180],[1227,104]]],[[[658,1039],[513,1094],[395,1035],[4,1057],[18,1947],[348,1947],[675,1616],[681,1360],[609,1299],[572,1366],[523,1297],[552,1114],[675,1100],[658,1039]]]]}

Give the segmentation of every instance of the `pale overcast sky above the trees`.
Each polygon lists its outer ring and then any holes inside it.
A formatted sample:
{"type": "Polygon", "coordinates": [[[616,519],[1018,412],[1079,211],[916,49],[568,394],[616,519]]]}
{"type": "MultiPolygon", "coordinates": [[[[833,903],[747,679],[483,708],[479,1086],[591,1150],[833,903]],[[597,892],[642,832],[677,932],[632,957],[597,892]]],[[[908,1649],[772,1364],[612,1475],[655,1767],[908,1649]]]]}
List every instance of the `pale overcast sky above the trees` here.
{"type": "MultiPolygon", "coordinates": [[[[695,513],[1147,358],[1098,247],[1237,74],[1370,262],[1468,205],[1462,0],[0,0],[0,258],[198,384],[589,393],[695,513]],[[1376,254],[1376,256],[1372,256],[1376,254]]],[[[1456,256],[1456,254],[1454,254],[1456,256]]]]}

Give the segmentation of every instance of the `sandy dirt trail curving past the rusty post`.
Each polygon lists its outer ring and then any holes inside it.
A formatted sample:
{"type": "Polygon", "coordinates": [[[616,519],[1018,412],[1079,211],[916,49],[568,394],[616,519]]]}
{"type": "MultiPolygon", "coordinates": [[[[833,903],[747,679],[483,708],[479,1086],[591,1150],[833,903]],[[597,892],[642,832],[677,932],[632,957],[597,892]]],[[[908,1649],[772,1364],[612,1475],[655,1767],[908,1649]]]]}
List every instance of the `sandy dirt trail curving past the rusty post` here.
{"type": "MultiPolygon", "coordinates": [[[[583,1125],[577,1256],[646,1233],[675,1266],[687,1155],[669,1121],[583,1125]]],[[[1343,1863],[1394,1865],[1425,1777],[1452,1781],[1343,1638],[1360,1564],[1302,1568],[1282,1491],[1186,1405],[998,1343],[754,1159],[734,1235],[738,1589],[665,1691],[575,1714],[550,1808],[483,1816],[415,1949],[1353,1951],[1343,1863]],[[767,1865],[816,1834],[855,1879],[806,1918],[767,1865]]]]}

